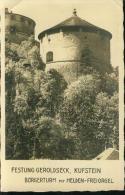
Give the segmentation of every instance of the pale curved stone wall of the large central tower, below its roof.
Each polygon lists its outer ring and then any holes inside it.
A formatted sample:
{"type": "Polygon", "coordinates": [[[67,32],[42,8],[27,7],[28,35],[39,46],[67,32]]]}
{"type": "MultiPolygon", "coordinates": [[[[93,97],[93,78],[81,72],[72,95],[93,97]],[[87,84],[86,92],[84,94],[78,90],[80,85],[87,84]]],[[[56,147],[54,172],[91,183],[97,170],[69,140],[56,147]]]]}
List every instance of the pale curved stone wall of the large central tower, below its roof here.
{"type": "Polygon", "coordinates": [[[110,64],[110,38],[100,32],[60,31],[50,35],[46,34],[41,40],[40,50],[42,59],[46,63],[46,70],[55,68],[69,82],[83,74],[81,63],[86,48],[96,59],[93,63],[98,61],[105,66],[110,64]],[[46,54],[49,51],[53,52],[52,62],[46,62],[46,54]]]}

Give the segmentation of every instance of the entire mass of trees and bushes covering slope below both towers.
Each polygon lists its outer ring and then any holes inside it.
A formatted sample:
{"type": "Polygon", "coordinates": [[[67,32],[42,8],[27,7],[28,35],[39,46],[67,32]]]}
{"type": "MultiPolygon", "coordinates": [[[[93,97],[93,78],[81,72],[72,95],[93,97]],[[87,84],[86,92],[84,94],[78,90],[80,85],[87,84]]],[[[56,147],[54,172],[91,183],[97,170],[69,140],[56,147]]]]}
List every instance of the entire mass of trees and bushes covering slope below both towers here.
{"type": "Polygon", "coordinates": [[[118,71],[102,74],[92,56],[84,52],[85,74],[67,85],[44,71],[33,37],[6,42],[7,159],[92,159],[118,148],[118,71]]]}

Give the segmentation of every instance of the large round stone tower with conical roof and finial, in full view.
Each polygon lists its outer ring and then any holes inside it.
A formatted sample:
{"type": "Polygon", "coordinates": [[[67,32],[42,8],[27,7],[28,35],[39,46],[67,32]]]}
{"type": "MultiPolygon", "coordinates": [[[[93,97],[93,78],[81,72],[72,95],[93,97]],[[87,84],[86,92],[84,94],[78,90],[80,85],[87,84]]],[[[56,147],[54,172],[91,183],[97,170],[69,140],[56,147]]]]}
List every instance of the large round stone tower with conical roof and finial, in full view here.
{"type": "Polygon", "coordinates": [[[84,74],[90,64],[104,72],[111,67],[111,33],[79,18],[75,9],[72,17],[41,32],[38,38],[46,70],[56,69],[68,83],[84,74]]]}

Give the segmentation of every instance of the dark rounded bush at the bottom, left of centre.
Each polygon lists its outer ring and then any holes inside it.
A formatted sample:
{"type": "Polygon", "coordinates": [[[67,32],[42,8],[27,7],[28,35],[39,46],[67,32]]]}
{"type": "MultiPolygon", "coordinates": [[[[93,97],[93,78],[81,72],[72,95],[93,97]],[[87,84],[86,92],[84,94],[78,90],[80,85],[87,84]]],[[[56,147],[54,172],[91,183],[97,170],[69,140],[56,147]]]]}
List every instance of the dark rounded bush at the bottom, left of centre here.
{"type": "Polygon", "coordinates": [[[40,117],[35,130],[33,158],[65,159],[68,142],[61,124],[50,117],[40,117]]]}

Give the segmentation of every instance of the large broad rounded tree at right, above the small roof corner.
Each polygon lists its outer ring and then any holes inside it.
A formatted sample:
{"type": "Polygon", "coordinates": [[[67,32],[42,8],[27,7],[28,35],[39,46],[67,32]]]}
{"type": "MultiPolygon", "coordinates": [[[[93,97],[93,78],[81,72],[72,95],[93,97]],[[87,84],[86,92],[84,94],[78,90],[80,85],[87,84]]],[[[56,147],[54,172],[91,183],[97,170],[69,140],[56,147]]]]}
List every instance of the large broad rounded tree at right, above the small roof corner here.
{"type": "Polygon", "coordinates": [[[85,75],[64,92],[59,118],[76,143],[74,156],[78,159],[92,159],[105,147],[118,148],[117,87],[109,91],[108,85],[101,86],[98,74],[85,75]]]}

